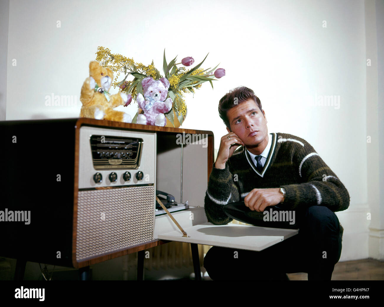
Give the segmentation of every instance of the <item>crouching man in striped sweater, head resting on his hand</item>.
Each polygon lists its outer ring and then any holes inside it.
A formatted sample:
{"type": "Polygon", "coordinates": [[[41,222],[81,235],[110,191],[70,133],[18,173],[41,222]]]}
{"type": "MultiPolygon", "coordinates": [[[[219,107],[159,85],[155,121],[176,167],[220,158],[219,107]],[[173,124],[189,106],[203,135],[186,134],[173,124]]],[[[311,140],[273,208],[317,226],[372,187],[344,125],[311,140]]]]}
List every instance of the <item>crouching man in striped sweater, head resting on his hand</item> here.
{"type": "Polygon", "coordinates": [[[227,224],[232,219],[223,206],[244,200],[258,212],[277,204],[295,210],[300,230],[260,252],[212,247],[204,258],[209,276],[286,280],[286,273],[307,272],[308,280],[330,280],[343,235],[333,212],[349,207],[348,191],[308,142],[288,133],[268,134],[265,112],[251,89],[228,92],[218,109],[228,133],[209,178],[208,221],[227,224]]]}

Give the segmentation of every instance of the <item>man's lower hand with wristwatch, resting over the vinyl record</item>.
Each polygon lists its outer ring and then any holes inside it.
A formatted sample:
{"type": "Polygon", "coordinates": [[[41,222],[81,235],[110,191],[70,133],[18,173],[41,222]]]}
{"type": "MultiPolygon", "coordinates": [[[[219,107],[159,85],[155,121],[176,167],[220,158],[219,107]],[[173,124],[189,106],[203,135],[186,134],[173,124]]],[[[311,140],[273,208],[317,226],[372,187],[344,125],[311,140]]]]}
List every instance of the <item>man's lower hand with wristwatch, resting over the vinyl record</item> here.
{"type": "Polygon", "coordinates": [[[244,204],[252,211],[263,212],[266,207],[275,206],[283,201],[284,196],[279,190],[279,188],[253,189],[244,198],[244,204]]]}

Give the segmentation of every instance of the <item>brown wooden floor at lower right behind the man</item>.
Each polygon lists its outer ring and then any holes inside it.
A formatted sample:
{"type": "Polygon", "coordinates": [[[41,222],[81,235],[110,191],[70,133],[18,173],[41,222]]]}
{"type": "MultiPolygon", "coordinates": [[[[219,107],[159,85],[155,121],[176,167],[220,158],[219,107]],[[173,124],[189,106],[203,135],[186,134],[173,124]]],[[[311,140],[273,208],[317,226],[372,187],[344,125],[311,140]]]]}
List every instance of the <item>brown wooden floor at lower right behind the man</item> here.
{"type": "MultiPolygon", "coordinates": [[[[307,273],[287,275],[290,280],[308,280],[307,273]]],[[[362,259],[338,262],[332,280],[384,280],[384,261],[362,259]]]]}

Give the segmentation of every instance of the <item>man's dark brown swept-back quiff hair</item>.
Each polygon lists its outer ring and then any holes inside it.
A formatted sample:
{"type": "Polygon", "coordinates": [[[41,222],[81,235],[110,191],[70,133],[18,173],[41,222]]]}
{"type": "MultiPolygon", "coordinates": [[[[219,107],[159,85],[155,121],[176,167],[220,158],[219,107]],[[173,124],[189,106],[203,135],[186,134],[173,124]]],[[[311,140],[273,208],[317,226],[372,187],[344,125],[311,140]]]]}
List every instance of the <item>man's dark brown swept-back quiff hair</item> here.
{"type": "Polygon", "coordinates": [[[229,129],[230,123],[227,117],[227,111],[249,99],[252,99],[258,105],[260,111],[262,111],[262,103],[260,102],[260,99],[255,95],[253,90],[245,86],[233,88],[233,90],[230,90],[220,99],[220,102],[218,103],[218,114],[229,129]]]}

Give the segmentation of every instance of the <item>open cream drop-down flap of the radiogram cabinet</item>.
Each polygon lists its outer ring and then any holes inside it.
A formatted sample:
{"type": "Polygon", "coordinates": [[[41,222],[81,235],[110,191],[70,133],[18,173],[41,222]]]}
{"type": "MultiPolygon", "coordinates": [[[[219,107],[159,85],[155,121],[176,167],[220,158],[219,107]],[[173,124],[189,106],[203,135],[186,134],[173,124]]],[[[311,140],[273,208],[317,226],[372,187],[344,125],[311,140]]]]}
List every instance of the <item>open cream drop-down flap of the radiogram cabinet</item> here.
{"type": "Polygon", "coordinates": [[[260,251],[299,233],[297,229],[280,229],[241,224],[214,225],[204,223],[159,234],[158,239],[260,251]]]}

